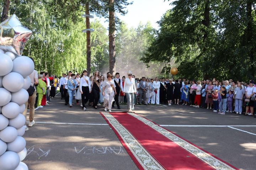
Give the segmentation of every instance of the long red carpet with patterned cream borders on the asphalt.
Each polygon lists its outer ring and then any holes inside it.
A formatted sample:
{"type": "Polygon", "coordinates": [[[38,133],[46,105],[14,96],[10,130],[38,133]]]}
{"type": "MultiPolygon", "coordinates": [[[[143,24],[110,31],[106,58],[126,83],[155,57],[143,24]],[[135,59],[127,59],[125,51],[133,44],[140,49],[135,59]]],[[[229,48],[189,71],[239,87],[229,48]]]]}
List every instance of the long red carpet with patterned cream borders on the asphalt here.
{"type": "Polygon", "coordinates": [[[101,114],[141,170],[238,170],[135,113],[101,114]]]}

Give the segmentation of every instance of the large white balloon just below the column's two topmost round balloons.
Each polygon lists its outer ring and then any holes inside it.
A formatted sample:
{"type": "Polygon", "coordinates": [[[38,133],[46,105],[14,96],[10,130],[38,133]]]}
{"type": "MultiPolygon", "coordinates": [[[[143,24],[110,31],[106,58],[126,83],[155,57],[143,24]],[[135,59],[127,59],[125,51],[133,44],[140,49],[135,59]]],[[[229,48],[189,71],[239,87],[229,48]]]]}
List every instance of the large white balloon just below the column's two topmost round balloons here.
{"type": "Polygon", "coordinates": [[[24,85],[24,78],[19,73],[11,72],[4,76],[2,84],[6,90],[16,92],[22,89],[24,85]]]}

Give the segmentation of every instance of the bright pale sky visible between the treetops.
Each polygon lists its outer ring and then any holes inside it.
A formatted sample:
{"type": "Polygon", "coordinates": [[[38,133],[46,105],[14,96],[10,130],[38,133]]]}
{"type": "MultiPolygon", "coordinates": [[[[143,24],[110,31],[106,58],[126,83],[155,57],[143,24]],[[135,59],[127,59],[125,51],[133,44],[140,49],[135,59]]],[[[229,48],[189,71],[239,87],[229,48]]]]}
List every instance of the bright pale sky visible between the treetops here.
{"type": "MultiPolygon", "coordinates": [[[[131,0],[128,0],[129,2],[131,0]]],[[[173,0],[171,0],[173,1],[173,0]]],[[[128,5],[126,10],[128,13],[125,16],[117,14],[117,16],[124,21],[128,27],[137,27],[140,22],[146,24],[148,21],[151,22],[153,28],[158,29],[156,23],[161,19],[164,13],[169,10],[172,6],[169,4],[171,1],[164,0],[133,0],[132,5],[128,5]]],[[[108,28],[108,22],[105,22],[105,18],[98,18],[104,27],[108,28]]]]}

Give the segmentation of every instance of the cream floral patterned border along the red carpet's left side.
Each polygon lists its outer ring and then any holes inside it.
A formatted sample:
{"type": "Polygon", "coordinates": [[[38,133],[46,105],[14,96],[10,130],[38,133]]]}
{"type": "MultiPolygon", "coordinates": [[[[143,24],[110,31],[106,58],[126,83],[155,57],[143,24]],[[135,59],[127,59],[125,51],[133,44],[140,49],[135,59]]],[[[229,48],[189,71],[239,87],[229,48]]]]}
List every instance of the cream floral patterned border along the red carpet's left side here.
{"type": "Polygon", "coordinates": [[[164,168],[151,156],[150,153],[148,153],[148,151],[146,151],[146,149],[136,140],[136,138],[110,113],[101,112],[101,114],[105,117],[107,123],[114,128],[119,139],[121,137],[123,141],[121,142],[123,145],[126,145],[126,147],[124,146],[126,150],[129,149],[136,161],[142,166],[144,170],[164,170],[164,168]]]}

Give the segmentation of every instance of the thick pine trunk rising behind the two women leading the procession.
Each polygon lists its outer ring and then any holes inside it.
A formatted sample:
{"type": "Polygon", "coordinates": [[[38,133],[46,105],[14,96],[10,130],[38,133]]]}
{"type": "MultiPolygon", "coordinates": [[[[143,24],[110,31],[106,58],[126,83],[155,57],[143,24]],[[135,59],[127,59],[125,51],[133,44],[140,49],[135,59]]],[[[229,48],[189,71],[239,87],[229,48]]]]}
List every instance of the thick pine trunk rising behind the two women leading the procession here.
{"type": "Polygon", "coordinates": [[[115,15],[114,15],[114,0],[109,0],[109,31],[108,31],[108,39],[109,39],[109,60],[110,60],[110,73],[116,72],[116,28],[115,28],[115,15]]]}

